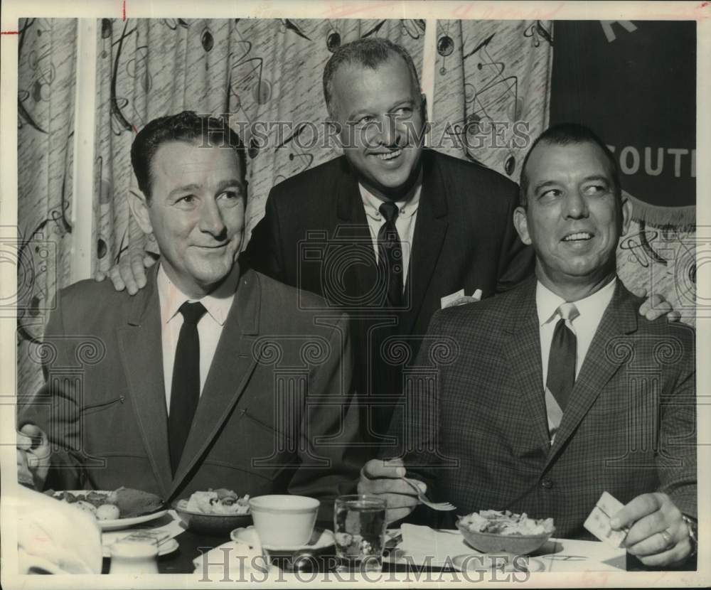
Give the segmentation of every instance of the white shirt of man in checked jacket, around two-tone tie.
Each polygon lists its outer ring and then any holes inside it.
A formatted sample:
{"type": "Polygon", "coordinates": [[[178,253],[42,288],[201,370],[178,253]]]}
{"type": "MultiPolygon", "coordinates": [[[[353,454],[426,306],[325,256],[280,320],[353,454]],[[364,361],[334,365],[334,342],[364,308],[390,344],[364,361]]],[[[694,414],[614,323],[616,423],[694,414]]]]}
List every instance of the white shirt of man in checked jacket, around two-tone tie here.
{"type": "MultiPolygon", "coordinates": [[[[602,320],[602,316],[609,305],[612,296],[615,292],[615,279],[612,279],[599,291],[595,291],[592,295],[579,299],[578,301],[570,301],[575,304],[579,315],[573,321],[567,322],[567,327],[570,328],[575,335],[575,377],[577,378],[580,368],[585,360],[585,355],[590,348],[592,338],[597,332],[597,326],[602,320]]],[[[548,377],[548,359],[550,358],[550,343],[553,340],[553,332],[555,325],[560,320],[557,309],[561,304],[566,303],[565,299],[556,295],[543,286],[540,281],[536,285],[535,304],[538,310],[538,326],[540,328],[540,362],[543,375],[543,391],[545,392],[545,407],[548,418],[548,430],[550,431],[550,442],[555,439],[555,432],[560,426],[562,419],[562,410],[555,401],[555,397],[546,387],[548,377]]]]}

